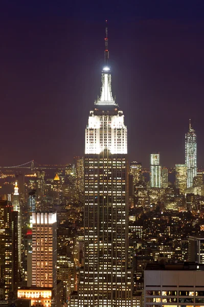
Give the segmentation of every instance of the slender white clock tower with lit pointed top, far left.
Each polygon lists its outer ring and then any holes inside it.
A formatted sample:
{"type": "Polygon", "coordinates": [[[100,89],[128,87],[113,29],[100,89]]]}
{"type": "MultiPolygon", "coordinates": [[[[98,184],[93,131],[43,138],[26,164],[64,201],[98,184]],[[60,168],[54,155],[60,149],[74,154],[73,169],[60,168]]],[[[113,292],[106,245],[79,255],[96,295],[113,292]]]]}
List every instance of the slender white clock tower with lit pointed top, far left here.
{"type": "Polygon", "coordinates": [[[18,212],[18,269],[21,268],[21,210],[20,210],[20,201],[19,201],[19,193],[18,193],[18,184],[15,182],[13,200],[12,200],[13,211],[18,212]]]}

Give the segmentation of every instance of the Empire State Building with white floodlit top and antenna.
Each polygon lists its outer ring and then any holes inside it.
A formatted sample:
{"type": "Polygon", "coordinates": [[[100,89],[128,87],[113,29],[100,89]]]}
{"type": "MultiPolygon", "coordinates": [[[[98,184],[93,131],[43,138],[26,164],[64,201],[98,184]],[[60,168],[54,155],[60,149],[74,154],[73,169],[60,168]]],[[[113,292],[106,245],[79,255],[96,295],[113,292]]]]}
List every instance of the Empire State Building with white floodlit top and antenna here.
{"type": "Polygon", "coordinates": [[[102,70],[100,97],[85,129],[84,267],[78,306],[132,306],[128,268],[127,127],[112,97],[111,73],[102,70]]]}

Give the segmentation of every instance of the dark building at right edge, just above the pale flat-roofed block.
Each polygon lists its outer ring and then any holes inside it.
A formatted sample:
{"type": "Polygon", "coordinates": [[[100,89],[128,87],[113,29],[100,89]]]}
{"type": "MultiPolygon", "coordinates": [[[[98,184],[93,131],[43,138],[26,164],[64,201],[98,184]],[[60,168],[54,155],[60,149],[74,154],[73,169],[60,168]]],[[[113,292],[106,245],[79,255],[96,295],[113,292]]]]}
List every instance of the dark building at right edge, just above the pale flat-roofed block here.
{"type": "Polygon", "coordinates": [[[189,236],[189,261],[204,264],[204,237],[189,236]]]}

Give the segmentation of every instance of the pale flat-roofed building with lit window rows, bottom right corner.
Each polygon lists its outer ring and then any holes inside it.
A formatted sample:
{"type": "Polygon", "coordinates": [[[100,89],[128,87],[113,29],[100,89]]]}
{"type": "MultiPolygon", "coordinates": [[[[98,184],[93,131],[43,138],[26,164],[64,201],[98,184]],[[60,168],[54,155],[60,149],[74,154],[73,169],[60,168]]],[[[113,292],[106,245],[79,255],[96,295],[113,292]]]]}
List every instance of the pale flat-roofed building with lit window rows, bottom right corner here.
{"type": "Polygon", "coordinates": [[[148,264],[144,270],[144,306],[200,306],[204,265],[195,262],[148,264]]]}

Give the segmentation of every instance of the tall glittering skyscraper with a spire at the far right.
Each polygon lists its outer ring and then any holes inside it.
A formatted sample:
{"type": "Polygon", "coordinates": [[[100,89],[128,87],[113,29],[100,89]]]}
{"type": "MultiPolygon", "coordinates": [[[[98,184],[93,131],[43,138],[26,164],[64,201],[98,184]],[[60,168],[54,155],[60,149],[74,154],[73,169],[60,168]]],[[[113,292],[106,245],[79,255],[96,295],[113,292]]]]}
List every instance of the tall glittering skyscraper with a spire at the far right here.
{"type": "Polygon", "coordinates": [[[185,163],[187,165],[187,188],[193,186],[193,178],[197,176],[197,136],[195,130],[189,124],[189,131],[186,133],[185,163]]]}

